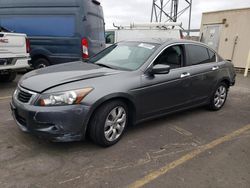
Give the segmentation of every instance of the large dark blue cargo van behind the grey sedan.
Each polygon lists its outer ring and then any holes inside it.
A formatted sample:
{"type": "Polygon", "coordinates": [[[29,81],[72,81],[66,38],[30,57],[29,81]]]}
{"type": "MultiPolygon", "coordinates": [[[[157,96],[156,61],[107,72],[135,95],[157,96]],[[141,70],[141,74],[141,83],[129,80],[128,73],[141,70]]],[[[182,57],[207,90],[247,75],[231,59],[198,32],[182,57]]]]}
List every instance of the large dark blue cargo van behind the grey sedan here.
{"type": "Polygon", "coordinates": [[[27,34],[34,68],[86,59],[105,48],[97,0],[1,0],[0,23],[27,34]]]}

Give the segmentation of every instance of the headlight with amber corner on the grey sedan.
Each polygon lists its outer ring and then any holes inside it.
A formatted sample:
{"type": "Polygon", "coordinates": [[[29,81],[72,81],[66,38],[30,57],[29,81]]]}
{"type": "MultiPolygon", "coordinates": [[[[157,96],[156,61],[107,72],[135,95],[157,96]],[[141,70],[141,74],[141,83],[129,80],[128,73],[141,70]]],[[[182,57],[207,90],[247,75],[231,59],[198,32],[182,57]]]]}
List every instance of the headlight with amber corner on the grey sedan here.
{"type": "Polygon", "coordinates": [[[93,88],[65,91],[59,93],[42,94],[38,100],[39,106],[62,106],[79,104],[93,88]]]}

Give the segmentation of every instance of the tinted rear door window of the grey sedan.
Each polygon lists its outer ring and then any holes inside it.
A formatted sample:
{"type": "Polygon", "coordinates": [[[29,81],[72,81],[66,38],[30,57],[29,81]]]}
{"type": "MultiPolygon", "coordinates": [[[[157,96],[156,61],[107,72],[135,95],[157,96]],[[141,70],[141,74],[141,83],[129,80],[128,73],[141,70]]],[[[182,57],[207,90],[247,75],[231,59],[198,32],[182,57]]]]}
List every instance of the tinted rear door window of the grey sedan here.
{"type": "Polygon", "coordinates": [[[211,58],[207,48],[199,45],[187,44],[186,49],[189,56],[187,62],[188,65],[198,65],[211,62],[211,58]]]}

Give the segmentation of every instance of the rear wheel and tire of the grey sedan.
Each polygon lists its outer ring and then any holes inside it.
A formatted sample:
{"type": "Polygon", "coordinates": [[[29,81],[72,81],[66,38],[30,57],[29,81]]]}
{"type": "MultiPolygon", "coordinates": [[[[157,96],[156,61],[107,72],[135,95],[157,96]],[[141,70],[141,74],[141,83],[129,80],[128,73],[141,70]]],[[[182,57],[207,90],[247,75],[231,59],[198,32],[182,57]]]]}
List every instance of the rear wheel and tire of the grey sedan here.
{"type": "Polygon", "coordinates": [[[227,94],[228,94],[228,85],[224,82],[221,82],[217,85],[212,97],[210,98],[209,102],[209,109],[212,111],[220,110],[226,100],[227,100],[227,94]]]}

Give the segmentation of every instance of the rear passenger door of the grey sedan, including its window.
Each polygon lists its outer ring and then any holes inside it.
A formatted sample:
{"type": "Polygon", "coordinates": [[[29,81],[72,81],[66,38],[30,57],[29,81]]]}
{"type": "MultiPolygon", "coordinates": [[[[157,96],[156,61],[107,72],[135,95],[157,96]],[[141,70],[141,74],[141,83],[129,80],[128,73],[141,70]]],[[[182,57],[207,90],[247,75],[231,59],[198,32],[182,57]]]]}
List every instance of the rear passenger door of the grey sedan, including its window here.
{"type": "Polygon", "coordinates": [[[193,103],[202,103],[210,96],[217,82],[219,66],[216,53],[198,44],[185,45],[187,62],[191,78],[191,96],[193,103]]]}

